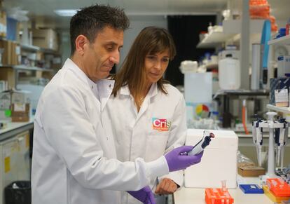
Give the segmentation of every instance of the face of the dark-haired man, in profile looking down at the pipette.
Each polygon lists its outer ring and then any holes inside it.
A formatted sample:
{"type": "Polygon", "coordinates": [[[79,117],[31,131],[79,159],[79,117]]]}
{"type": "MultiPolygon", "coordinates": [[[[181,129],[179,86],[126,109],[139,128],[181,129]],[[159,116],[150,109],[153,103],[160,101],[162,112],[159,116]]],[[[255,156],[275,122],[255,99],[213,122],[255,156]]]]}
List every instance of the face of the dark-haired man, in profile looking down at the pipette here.
{"type": "Polygon", "coordinates": [[[92,81],[109,76],[114,64],[120,60],[120,48],[123,46],[123,31],[104,27],[85,49],[83,64],[85,72],[92,81]]]}

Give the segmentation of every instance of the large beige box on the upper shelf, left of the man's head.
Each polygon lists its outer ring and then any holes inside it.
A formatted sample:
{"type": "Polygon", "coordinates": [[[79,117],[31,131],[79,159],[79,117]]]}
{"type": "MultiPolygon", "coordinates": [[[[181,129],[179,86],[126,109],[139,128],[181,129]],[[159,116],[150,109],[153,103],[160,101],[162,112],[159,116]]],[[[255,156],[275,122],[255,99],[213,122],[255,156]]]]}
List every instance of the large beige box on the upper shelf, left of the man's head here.
{"type": "Polygon", "coordinates": [[[58,50],[57,33],[53,29],[33,29],[33,45],[58,50]]]}

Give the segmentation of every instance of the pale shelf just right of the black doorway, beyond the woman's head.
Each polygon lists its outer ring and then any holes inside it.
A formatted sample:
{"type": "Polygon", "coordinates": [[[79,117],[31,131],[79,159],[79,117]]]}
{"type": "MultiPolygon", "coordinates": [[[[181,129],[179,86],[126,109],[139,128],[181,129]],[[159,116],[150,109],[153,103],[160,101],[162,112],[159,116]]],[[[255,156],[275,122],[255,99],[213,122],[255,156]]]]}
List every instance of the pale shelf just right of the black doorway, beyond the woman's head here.
{"type": "Polygon", "coordinates": [[[235,36],[235,34],[226,34],[224,32],[212,32],[208,34],[205,39],[198,43],[197,48],[215,48],[219,44],[226,42],[228,39],[235,36]]]}

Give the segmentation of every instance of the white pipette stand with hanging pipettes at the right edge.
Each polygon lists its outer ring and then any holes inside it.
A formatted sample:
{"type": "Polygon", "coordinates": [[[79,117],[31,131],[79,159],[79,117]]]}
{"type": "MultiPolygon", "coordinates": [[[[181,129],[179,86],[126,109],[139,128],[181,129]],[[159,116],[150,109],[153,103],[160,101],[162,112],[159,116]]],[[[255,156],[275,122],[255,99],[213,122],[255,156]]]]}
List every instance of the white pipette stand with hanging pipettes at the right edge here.
{"type": "Polygon", "coordinates": [[[274,121],[275,112],[268,112],[268,120],[264,121],[258,118],[253,121],[253,142],[257,149],[258,165],[261,166],[261,149],[263,145],[263,128],[269,129],[269,147],[268,147],[268,171],[262,178],[265,181],[266,178],[276,177],[275,175],[275,142],[277,147],[278,161],[282,155],[282,149],[286,144],[285,138],[288,137],[288,123],[284,119],[274,121]],[[275,135],[274,135],[275,132],[275,135]],[[287,135],[286,135],[287,134],[287,135]],[[281,140],[280,140],[281,138],[281,140]]]}

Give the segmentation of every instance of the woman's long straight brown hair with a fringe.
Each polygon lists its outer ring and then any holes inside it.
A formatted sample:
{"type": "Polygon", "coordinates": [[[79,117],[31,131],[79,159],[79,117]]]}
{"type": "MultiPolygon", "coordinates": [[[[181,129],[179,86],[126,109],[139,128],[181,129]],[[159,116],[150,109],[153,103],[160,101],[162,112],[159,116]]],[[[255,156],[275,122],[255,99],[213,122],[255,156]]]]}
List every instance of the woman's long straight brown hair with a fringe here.
{"type": "MultiPolygon", "coordinates": [[[[125,58],[122,67],[117,74],[112,76],[115,80],[115,86],[112,94],[116,97],[118,90],[122,86],[129,86],[130,92],[136,96],[142,92],[146,84],[145,57],[146,55],[154,55],[168,50],[170,60],[176,55],[174,41],[170,33],[160,27],[145,27],[134,40],[130,51],[125,58]]],[[[165,80],[163,77],[157,82],[158,89],[167,94],[163,86],[165,80]]]]}

